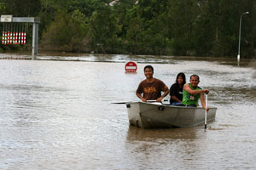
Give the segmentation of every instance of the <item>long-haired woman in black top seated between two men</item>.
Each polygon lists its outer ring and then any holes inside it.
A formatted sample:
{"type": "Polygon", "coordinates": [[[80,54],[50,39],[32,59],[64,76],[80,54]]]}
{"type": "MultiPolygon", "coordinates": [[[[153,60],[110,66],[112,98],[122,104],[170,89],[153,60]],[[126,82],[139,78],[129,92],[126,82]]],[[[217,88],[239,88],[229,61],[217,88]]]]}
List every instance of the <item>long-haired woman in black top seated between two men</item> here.
{"type": "Polygon", "coordinates": [[[180,105],[183,101],[183,86],[186,83],[186,76],[183,72],[177,74],[176,82],[170,88],[170,105],[180,105]]]}

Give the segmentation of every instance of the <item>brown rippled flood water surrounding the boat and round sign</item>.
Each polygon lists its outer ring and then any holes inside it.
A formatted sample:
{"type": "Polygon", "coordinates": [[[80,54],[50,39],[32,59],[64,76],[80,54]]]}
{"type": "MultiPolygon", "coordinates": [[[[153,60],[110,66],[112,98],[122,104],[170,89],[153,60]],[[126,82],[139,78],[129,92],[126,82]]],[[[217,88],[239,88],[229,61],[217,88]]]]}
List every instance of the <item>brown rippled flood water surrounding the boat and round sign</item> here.
{"type": "MultiPolygon", "coordinates": [[[[10,55],[14,56],[14,54],[10,55]]],[[[19,56],[18,56],[19,57],[19,56]]],[[[169,96],[166,97],[169,99],[169,96]]],[[[0,169],[256,169],[255,61],[167,56],[38,56],[0,60],[0,169]],[[125,62],[137,74],[125,74],[125,62]],[[188,128],[129,125],[143,67],[167,86],[201,77],[216,120],[188,128]]]]}

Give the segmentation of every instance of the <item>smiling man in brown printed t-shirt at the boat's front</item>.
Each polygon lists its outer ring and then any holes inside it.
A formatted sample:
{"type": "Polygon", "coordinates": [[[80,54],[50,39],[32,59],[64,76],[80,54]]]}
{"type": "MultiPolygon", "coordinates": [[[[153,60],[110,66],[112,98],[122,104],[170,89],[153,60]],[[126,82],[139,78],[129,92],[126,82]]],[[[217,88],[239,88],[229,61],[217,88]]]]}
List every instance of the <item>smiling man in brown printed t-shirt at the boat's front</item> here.
{"type": "Polygon", "coordinates": [[[159,79],[154,78],[153,74],[153,66],[146,65],[144,67],[144,75],[146,79],[140,82],[136,91],[137,97],[143,102],[146,102],[147,100],[156,100],[157,102],[161,102],[162,99],[169,94],[169,88],[167,88],[166,84],[159,79]],[[161,92],[164,92],[164,94],[161,95],[161,92]]]}

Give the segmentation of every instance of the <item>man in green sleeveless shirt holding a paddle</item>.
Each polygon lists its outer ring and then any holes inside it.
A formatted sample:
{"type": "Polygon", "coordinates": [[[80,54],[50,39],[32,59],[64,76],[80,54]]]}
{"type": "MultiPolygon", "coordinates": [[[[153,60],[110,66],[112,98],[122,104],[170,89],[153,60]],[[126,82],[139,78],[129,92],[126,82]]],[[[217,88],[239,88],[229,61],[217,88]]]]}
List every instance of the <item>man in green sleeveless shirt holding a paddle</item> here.
{"type": "Polygon", "coordinates": [[[186,83],[183,86],[183,105],[190,107],[198,106],[198,99],[201,99],[202,107],[208,111],[209,108],[206,108],[206,100],[204,94],[208,94],[208,89],[201,89],[198,87],[200,78],[198,75],[192,75],[189,80],[190,83],[186,83]]]}

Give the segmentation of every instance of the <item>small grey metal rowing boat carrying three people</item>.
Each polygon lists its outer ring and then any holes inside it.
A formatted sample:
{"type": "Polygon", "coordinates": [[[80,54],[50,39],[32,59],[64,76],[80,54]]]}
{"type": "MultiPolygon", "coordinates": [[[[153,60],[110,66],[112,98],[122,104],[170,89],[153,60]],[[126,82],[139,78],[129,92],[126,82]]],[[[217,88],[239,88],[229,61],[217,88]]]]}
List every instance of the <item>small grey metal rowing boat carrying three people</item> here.
{"type": "MultiPolygon", "coordinates": [[[[199,107],[165,105],[159,102],[125,103],[131,125],[142,128],[195,127],[205,122],[205,110],[199,107]]],[[[215,120],[217,108],[208,106],[207,122],[215,120]]]]}

